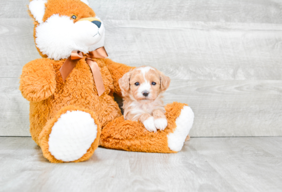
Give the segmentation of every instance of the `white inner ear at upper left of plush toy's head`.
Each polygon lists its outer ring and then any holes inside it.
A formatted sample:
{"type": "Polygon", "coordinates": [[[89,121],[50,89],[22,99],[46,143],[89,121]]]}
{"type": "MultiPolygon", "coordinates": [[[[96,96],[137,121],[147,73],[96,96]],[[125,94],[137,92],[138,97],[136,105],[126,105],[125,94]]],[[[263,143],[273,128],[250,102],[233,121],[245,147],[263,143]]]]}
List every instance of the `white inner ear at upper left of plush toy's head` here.
{"type": "Polygon", "coordinates": [[[47,0],[33,0],[29,3],[29,10],[36,22],[43,23],[43,16],[45,14],[45,4],[47,0]]]}

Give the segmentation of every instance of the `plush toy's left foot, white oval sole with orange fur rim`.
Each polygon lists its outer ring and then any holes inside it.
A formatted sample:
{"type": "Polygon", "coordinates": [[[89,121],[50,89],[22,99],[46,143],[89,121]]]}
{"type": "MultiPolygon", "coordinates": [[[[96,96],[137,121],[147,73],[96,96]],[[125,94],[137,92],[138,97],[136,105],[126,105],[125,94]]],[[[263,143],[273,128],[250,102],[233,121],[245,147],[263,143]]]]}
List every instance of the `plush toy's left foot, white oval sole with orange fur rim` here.
{"type": "Polygon", "coordinates": [[[52,163],[88,160],[98,147],[100,126],[94,112],[66,106],[39,135],[43,155],[52,163]]]}

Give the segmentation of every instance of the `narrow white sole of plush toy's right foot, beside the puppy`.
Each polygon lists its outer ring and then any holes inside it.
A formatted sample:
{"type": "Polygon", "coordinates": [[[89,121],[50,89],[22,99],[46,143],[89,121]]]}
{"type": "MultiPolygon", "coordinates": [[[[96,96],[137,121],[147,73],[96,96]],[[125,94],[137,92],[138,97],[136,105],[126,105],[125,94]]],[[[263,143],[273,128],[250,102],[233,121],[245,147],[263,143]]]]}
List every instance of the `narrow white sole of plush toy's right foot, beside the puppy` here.
{"type": "Polygon", "coordinates": [[[180,115],[176,118],[176,128],[173,133],[167,135],[170,150],[179,152],[193,125],[194,113],[190,106],[184,106],[180,115]]]}

